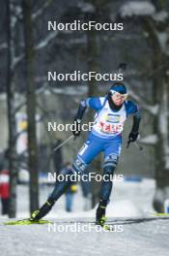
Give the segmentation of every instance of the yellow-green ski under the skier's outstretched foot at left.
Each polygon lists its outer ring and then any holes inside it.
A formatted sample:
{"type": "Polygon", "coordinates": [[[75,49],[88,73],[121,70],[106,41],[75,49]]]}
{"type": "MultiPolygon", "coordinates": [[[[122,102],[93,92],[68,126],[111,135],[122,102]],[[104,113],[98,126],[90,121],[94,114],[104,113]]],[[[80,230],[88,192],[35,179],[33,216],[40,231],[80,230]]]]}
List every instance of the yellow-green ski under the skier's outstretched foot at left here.
{"type": "Polygon", "coordinates": [[[53,223],[53,222],[47,219],[30,220],[29,218],[27,218],[27,219],[7,221],[7,222],[4,222],[4,225],[34,225],[34,224],[48,224],[48,223],[53,223]]]}

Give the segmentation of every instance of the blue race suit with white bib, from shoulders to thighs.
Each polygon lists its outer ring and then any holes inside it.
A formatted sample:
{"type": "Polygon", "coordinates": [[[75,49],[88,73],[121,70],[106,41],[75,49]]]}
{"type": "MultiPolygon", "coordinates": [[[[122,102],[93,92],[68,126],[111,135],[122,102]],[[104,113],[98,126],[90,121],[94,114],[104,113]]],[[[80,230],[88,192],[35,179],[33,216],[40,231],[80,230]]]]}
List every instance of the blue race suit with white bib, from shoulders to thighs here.
{"type": "Polygon", "coordinates": [[[92,131],[77,158],[88,165],[101,151],[104,152],[104,159],[110,154],[119,157],[125,121],[130,114],[138,112],[137,105],[125,101],[120,111],[112,111],[106,97],[88,98],[82,104],[95,110],[96,115],[92,131]]]}

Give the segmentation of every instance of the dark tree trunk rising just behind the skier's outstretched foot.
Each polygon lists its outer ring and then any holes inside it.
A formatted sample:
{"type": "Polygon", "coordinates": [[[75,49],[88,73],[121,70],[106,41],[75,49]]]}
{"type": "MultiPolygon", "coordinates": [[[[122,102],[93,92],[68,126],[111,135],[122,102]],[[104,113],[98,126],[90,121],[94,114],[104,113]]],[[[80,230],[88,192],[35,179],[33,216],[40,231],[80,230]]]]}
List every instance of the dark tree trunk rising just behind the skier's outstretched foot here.
{"type": "Polygon", "coordinates": [[[36,83],[35,48],[32,26],[31,1],[23,0],[24,43],[26,62],[27,120],[28,120],[28,169],[30,173],[30,211],[39,208],[39,168],[36,136],[36,83]]]}

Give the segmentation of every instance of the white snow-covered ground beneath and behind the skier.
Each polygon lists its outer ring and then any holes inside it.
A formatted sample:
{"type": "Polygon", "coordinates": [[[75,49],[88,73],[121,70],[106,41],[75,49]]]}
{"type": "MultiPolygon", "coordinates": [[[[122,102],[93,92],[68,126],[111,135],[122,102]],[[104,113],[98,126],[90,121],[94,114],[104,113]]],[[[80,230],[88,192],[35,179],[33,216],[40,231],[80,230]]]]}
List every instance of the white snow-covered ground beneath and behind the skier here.
{"type": "MultiPolygon", "coordinates": [[[[28,214],[27,188],[19,186],[18,210],[28,214]]],[[[50,189],[42,188],[41,201],[50,189]]],[[[94,225],[95,209],[83,211],[81,191],[75,195],[72,213],[64,210],[64,197],[48,214],[50,225],[4,226],[0,216],[0,252],[17,255],[168,255],[169,219],[148,215],[152,211],[155,181],[117,182],[113,204],[109,204],[108,223],[114,232],[103,232],[94,225]]]]}

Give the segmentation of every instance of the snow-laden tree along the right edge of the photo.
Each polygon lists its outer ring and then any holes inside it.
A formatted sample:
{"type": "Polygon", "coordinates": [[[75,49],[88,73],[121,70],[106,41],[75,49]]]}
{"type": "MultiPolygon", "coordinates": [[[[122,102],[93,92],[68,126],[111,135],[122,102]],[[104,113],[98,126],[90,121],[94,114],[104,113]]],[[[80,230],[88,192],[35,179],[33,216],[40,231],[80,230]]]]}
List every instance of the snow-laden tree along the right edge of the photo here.
{"type": "MultiPolygon", "coordinates": [[[[167,1],[132,1],[121,9],[121,16],[133,20],[139,19],[147,35],[148,46],[153,50],[153,101],[148,106],[140,97],[136,97],[142,108],[154,117],[154,135],[142,140],[155,145],[155,181],[154,207],[164,211],[164,202],[169,198],[169,10],[167,1]],[[147,139],[147,140],[146,140],[147,139]]],[[[134,97],[134,95],[132,95],[134,97]]]]}

